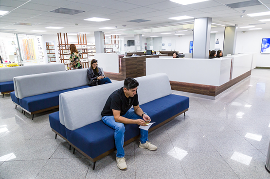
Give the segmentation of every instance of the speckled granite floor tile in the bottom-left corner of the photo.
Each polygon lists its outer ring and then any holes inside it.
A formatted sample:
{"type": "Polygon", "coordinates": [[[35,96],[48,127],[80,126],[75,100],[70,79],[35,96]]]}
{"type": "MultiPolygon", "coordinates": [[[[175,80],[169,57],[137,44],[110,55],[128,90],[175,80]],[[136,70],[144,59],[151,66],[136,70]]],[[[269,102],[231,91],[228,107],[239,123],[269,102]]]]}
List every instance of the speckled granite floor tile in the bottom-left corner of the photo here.
{"type": "Polygon", "coordinates": [[[2,178],[35,178],[48,160],[7,161],[1,165],[2,178]]]}

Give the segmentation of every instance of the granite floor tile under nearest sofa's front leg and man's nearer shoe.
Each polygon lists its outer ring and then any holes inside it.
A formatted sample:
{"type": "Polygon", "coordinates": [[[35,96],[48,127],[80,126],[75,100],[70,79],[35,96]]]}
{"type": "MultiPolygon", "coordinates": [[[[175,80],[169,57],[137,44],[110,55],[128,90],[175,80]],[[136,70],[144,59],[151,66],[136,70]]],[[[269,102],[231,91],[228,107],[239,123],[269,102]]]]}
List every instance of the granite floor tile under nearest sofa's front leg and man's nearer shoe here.
{"type": "Polygon", "coordinates": [[[120,170],[117,167],[114,153],[98,160],[95,170],[90,166],[86,178],[136,178],[135,156],[125,156],[127,169],[120,170]]]}

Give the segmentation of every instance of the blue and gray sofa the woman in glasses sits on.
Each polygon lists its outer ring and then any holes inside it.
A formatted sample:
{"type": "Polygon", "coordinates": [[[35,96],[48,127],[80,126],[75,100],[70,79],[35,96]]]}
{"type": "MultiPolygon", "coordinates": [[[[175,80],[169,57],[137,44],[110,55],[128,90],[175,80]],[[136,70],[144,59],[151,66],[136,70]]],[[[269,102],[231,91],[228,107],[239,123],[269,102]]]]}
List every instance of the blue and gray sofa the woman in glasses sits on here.
{"type": "Polygon", "coordinates": [[[11,100],[32,115],[59,107],[59,94],[89,87],[87,69],[14,77],[11,100]]]}

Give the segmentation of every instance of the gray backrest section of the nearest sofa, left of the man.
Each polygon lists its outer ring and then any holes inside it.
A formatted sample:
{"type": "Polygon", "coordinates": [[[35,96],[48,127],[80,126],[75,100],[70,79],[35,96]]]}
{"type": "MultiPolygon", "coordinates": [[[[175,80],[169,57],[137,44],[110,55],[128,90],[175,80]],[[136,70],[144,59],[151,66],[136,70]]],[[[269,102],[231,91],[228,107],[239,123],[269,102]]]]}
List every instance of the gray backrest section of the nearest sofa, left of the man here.
{"type": "Polygon", "coordinates": [[[69,130],[101,120],[101,111],[115,90],[124,82],[108,83],[85,89],[61,93],[59,95],[59,118],[69,130]]]}

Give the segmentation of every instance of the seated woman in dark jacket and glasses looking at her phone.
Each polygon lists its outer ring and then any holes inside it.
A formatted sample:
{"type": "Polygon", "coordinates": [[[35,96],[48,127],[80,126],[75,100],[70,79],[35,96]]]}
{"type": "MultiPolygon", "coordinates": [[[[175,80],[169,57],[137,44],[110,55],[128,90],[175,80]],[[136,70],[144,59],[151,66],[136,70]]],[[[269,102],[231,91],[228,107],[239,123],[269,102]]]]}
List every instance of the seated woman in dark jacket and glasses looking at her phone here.
{"type": "Polygon", "coordinates": [[[92,59],[90,68],[87,69],[87,77],[89,79],[89,86],[103,85],[112,83],[109,78],[105,78],[101,69],[97,67],[97,60],[92,59]]]}

